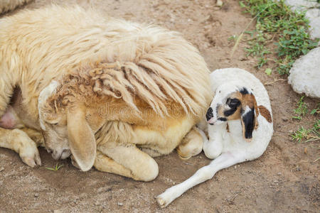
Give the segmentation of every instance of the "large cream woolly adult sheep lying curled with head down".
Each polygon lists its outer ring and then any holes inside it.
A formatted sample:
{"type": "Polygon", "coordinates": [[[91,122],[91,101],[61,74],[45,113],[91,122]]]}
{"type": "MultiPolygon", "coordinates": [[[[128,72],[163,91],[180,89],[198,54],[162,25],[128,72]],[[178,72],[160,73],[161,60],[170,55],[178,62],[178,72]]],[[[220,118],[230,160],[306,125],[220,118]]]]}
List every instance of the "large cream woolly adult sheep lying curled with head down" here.
{"type": "MultiPolygon", "coordinates": [[[[14,111],[43,132],[53,158],[149,181],[151,156],[201,152],[194,125],[210,104],[209,71],[178,33],[60,6],[21,11],[0,28],[0,116],[18,95],[14,111]]],[[[37,163],[23,131],[0,129],[0,140],[37,163]]]]}

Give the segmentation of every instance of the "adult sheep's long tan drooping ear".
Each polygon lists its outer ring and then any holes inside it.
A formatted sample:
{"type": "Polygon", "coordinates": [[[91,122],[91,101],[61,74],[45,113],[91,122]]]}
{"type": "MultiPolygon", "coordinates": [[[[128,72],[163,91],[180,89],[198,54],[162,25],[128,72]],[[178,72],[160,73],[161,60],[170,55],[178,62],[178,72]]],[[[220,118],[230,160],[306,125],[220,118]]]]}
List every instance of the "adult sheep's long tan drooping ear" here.
{"type": "Polygon", "coordinates": [[[68,110],[69,146],[75,161],[82,171],[92,168],[97,155],[95,134],[85,119],[85,106],[68,110]]]}

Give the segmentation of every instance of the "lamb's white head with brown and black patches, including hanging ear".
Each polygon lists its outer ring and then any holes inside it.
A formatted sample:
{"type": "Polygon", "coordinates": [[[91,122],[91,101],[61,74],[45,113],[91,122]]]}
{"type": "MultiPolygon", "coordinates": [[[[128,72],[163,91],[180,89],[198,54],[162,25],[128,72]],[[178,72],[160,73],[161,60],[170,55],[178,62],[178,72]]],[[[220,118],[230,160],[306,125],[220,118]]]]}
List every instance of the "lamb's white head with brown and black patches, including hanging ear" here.
{"type": "Polygon", "coordinates": [[[257,102],[252,90],[236,84],[221,84],[215,91],[206,119],[210,125],[241,120],[243,137],[250,141],[257,127],[257,102]]]}

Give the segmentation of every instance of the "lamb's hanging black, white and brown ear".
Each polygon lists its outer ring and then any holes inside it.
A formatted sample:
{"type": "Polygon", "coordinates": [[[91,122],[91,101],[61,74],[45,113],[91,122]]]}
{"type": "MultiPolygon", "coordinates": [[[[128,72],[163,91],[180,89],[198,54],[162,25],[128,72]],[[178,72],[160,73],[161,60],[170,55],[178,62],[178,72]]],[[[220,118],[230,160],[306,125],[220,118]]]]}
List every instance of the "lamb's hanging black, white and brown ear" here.
{"type": "Polygon", "coordinates": [[[253,94],[245,95],[242,97],[241,105],[241,124],[242,134],[247,141],[251,141],[252,132],[257,128],[257,102],[253,94]]]}

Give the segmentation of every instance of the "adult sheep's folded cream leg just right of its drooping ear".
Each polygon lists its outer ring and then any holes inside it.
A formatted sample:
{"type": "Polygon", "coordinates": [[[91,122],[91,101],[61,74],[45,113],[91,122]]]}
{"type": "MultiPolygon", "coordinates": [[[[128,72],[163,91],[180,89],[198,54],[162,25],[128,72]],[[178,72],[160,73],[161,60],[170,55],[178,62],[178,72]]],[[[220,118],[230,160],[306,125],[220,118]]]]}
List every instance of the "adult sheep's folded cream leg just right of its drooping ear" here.
{"type": "Polygon", "coordinates": [[[98,170],[142,181],[154,180],[159,173],[156,161],[134,144],[107,142],[97,146],[97,150],[106,155],[96,159],[98,170]]]}

